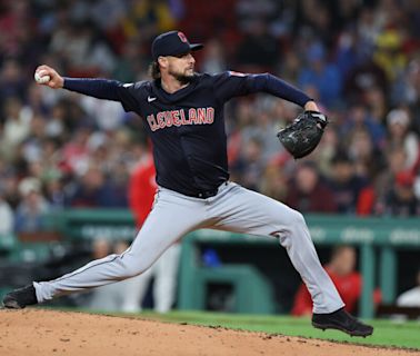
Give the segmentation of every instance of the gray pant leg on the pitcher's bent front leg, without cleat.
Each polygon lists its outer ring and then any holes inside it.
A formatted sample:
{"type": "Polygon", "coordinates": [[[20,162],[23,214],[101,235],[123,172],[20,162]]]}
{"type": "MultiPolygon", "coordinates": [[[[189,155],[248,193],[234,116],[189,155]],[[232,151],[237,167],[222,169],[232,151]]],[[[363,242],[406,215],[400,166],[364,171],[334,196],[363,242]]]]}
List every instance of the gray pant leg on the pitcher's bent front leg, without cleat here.
{"type": "Polygon", "coordinates": [[[219,217],[217,229],[278,237],[311,294],[314,313],[331,313],[344,306],[319,261],[299,211],[236,185],[212,201],[211,214],[219,217]]]}

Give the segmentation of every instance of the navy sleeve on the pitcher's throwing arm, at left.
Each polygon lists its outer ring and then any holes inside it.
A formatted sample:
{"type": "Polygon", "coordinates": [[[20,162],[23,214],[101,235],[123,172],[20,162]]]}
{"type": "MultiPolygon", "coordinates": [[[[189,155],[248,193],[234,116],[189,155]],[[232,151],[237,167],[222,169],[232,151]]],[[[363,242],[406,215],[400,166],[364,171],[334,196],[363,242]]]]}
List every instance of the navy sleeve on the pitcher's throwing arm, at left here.
{"type": "Polygon", "coordinates": [[[98,99],[120,101],[126,111],[139,111],[142,81],[122,83],[117,80],[64,78],[64,89],[98,99]]]}

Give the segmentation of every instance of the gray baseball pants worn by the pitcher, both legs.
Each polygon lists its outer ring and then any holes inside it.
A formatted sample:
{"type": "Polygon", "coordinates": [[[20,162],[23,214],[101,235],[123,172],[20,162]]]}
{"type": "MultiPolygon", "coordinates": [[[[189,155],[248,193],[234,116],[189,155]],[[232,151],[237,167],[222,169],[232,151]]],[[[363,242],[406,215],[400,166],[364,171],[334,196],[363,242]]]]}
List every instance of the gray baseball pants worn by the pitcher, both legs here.
{"type": "Polygon", "coordinates": [[[37,299],[42,303],[140,275],[169,246],[200,228],[278,237],[311,294],[313,313],[331,313],[344,305],[319,261],[302,215],[234,182],[221,185],[207,199],[160,187],[153,209],[124,253],[93,260],[54,280],[33,283],[37,299]]]}

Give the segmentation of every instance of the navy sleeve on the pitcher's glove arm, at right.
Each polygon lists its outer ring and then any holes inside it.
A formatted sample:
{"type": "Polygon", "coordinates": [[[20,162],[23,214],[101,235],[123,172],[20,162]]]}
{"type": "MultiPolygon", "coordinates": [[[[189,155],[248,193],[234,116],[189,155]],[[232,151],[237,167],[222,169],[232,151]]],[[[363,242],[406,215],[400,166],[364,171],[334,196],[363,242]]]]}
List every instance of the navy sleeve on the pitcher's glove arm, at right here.
{"type": "Polygon", "coordinates": [[[216,96],[222,102],[239,96],[268,92],[303,107],[311,100],[303,91],[270,73],[247,75],[226,71],[212,76],[216,96]]]}

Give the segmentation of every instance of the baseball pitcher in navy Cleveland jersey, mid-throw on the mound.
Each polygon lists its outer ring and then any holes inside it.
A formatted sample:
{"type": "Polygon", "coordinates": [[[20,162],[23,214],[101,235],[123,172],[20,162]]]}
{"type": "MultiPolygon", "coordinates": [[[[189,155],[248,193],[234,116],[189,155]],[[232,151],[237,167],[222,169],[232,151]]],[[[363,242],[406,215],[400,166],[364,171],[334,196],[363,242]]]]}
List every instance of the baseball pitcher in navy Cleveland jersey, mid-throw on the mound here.
{"type": "MultiPolygon", "coordinates": [[[[124,110],[143,118],[153,144],[159,187],[153,209],[124,253],[11,291],[3,299],[4,307],[23,308],[140,275],[186,234],[211,228],[277,238],[311,295],[312,325],[352,336],[371,335],[371,326],[343,309],[340,295],[319,261],[303,216],[229,180],[223,119],[229,99],[267,92],[294,102],[307,112],[304,121],[298,119],[298,127],[313,120],[322,130],[326,116],[306,93],[269,73],[196,73],[193,51],[202,47],[191,44],[179,31],[158,36],[151,48],[151,81],[63,78],[48,66],[37,69],[40,85],[120,101],[124,110]]],[[[311,131],[317,130],[312,127],[311,131]]],[[[297,158],[309,154],[313,141],[318,141],[293,130],[279,138],[297,158]],[[297,147],[300,152],[296,152],[297,147]]]]}

